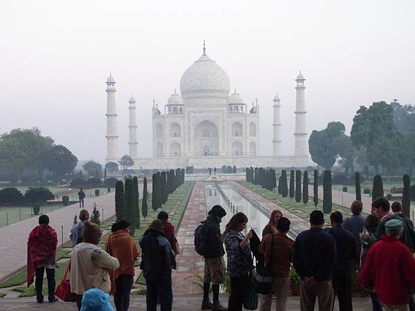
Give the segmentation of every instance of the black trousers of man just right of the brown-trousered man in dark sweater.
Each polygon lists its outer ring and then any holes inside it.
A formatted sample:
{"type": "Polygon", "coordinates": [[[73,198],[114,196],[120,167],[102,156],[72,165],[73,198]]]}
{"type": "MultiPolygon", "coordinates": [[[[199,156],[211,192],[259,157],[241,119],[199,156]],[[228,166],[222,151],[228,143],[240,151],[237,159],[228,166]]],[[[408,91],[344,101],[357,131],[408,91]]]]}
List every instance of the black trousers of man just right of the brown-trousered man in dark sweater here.
{"type": "MultiPolygon", "coordinates": [[[[333,270],[333,290],[334,295],[338,296],[339,310],[352,311],[351,287],[350,287],[350,266],[335,267],[333,270]]],[[[333,300],[334,303],[334,300],[333,300]]]]}

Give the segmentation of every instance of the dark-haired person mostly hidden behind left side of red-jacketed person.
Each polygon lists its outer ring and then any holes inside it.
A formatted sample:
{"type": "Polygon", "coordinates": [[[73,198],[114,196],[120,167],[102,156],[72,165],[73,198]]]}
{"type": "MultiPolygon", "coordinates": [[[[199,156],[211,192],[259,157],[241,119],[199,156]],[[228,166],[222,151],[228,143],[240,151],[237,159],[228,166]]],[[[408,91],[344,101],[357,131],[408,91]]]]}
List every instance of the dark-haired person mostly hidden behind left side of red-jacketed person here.
{"type": "MultiPolygon", "coordinates": [[[[360,267],[365,264],[366,254],[371,245],[378,241],[376,231],[378,230],[379,220],[375,215],[368,215],[365,220],[365,231],[360,234],[362,241],[362,252],[360,253],[360,267]]],[[[368,289],[372,301],[372,311],[383,311],[378,295],[373,290],[368,289]]]]}

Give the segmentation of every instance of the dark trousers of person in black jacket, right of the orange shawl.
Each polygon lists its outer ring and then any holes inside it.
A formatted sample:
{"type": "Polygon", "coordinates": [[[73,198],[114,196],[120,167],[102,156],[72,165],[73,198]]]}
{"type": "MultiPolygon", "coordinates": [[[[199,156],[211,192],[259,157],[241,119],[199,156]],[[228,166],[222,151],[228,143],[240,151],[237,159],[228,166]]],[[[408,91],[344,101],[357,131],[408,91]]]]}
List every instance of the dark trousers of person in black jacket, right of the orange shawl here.
{"type": "Polygon", "coordinates": [[[166,280],[145,280],[147,286],[146,303],[147,311],[156,311],[157,297],[160,302],[160,311],[172,311],[173,290],[172,279],[166,280]]]}

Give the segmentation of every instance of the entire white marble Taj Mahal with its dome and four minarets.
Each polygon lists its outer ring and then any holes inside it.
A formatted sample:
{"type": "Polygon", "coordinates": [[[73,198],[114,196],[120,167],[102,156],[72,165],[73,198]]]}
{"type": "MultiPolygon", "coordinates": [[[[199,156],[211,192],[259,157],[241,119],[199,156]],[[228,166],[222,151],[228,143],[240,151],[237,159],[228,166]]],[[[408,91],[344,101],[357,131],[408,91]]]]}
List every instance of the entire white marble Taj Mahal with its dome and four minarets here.
{"type": "MultiPolygon", "coordinates": [[[[206,53],[185,70],[180,93],[175,90],[164,109],[153,101],[153,158],[140,158],[136,100],[129,99],[129,156],[133,169],[165,169],[193,166],[198,169],[236,167],[306,167],[308,165],[304,76],[295,79],[295,150],[283,156],[281,100],[273,98],[273,156],[259,155],[257,100],[248,106],[235,88],[230,94],[228,74],[206,53]],[[161,109],[161,110],[160,110],[161,109]]],[[[116,81],[107,79],[107,157],[118,162],[116,81]]],[[[271,102],[271,101],[270,101],[271,102]]],[[[143,132],[143,131],[140,131],[143,132]]]]}

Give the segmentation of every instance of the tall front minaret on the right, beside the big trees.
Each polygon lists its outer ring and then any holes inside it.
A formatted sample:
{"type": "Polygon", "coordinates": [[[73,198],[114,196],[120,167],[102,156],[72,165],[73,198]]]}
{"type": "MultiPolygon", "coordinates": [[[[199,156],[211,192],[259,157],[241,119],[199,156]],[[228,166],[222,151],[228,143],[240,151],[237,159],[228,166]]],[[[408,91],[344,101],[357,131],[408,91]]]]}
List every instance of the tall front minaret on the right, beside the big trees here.
{"type": "Polygon", "coordinates": [[[306,102],[304,100],[304,75],[301,71],[297,75],[297,95],[295,98],[295,156],[305,156],[307,154],[307,132],[306,132],[306,102]]]}

